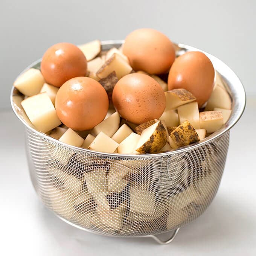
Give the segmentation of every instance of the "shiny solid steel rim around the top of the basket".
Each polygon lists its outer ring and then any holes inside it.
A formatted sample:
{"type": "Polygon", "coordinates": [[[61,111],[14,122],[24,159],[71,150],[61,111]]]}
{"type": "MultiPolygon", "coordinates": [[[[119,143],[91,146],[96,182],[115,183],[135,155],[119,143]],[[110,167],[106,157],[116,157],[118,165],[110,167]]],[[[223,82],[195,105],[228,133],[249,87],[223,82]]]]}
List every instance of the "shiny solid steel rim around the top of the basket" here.
{"type": "MultiPolygon", "coordinates": [[[[101,41],[102,50],[104,50],[104,48],[106,48],[106,50],[109,49],[108,46],[118,47],[123,42],[124,42],[124,40],[101,41]]],[[[196,142],[196,143],[193,143],[191,145],[184,146],[184,147],[172,150],[172,151],[167,151],[167,152],[163,152],[163,153],[156,153],[156,154],[135,155],[135,154],[103,153],[103,152],[99,152],[99,151],[91,151],[90,149],[79,148],[79,147],[76,147],[76,146],[68,145],[68,144],[60,142],[60,141],[58,141],[58,143],[63,145],[63,146],[66,146],[68,148],[72,148],[74,150],[86,152],[86,153],[89,153],[89,154],[104,155],[104,156],[108,156],[108,157],[125,157],[125,158],[134,158],[134,157],[135,158],[142,158],[142,157],[145,158],[145,157],[159,157],[159,156],[162,157],[162,156],[166,156],[166,155],[172,155],[172,154],[177,154],[177,153],[180,153],[180,152],[189,151],[191,149],[197,148],[198,146],[205,145],[205,144],[210,143],[213,140],[217,139],[218,137],[221,137],[224,133],[229,131],[238,122],[238,120],[241,118],[241,116],[244,112],[244,109],[245,109],[246,94],[245,94],[245,89],[242,85],[242,82],[240,81],[238,76],[235,74],[235,72],[233,72],[233,70],[230,69],[229,66],[224,64],[224,62],[222,62],[221,60],[219,60],[215,56],[213,56],[213,55],[211,55],[207,52],[204,52],[202,50],[199,50],[195,47],[188,46],[186,44],[176,44],[176,45],[179,47],[178,55],[181,55],[182,53],[189,52],[189,51],[200,51],[200,52],[205,53],[210,58],[210,60],[213,63],[214,68],[222,76],[222,79],[224,80],[225,84],[227,85],[226,89],[227,89],[228,93],[230,94],[230,96],[232,98],[232,113],[231,113],[230,118],[227,121],[227,123],[225,125],[223,125],[223,127],[221,129],[219,129],[215,133],[211,134],[210,136],[206,137],[205,139],[201,140],[200,142],[196,142]]],[[[30,64],[26,69],[24,69],[20,73],[20,75],[22,73],[24,73],[26,70],[30,69],[31,67],[34,67],[40,61],[41,61],[41,59],[38,59],[37,61],[30,64]]],[[[18,75],[18,76],[20,76],[20,75],[18,75]]],[[[18,76],[17,76],[17,78],[18,78],[18,76]]],[[[14,93],[14,88],[15,87],[12,86],[10,100],[11,100],[12,110],[14,111],[14,113],[18,117],[18,119],[20,119],[20,121],[23,123],[24,126],[26,126],[27,129],[33,131],[38,136],[41,136],[44,139],[51,140],[51,141],[56,143],[56,141],[57,141],[56,139],[48,136],[45,133],[42,133],[42,132],[32,128],[28,123],[26,123],[20,117],[20,115],[15,110],[14,102],[13,102],[13,99],[12,99],[12,96],[13,96],[13,93],[14,93]]]]}

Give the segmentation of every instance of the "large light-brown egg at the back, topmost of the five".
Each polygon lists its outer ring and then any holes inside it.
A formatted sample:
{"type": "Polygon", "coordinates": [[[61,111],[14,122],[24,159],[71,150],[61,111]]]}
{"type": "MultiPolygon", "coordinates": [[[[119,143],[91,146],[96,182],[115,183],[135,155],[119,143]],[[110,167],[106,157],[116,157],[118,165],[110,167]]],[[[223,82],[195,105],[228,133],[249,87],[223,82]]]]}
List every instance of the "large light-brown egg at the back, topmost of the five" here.
{"type": "Polygon", "coordinates": [[[134,70],[149,74],[167,73],[175,59],[171,40],[154,29],[137,29],[123,44],[125,54],[134,70]]]}

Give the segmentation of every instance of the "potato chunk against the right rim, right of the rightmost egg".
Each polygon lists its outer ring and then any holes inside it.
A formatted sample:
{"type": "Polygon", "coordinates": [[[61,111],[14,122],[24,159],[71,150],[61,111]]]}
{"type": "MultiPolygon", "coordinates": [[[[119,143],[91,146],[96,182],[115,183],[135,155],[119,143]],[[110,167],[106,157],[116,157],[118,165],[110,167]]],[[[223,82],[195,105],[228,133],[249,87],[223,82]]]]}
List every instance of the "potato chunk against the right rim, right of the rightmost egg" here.
{"type": "Polygon", "coordinates": [[[230,110],[231,105],[232,101],[227,91],[217,85],[207,101],[205,111],[213,110],[214,108],[224,108],[230,110]]]}

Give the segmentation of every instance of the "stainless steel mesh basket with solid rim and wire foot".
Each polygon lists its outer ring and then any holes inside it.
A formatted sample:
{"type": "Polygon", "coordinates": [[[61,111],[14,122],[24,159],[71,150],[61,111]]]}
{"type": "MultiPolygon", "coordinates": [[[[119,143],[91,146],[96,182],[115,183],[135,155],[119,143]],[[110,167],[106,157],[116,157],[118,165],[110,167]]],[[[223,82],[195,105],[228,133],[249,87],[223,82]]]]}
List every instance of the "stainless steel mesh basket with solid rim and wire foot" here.
{"type": "MultiPolygon", "coordinates": [[[[121,44],[102,41],[102,50],[121,44]]],[[[180,55],[198,49],[178,44],[176,50],[180,55]]],[[[229,130],[245,108],[239,78],[219,59],[207,56],[232,98],[230,119],[199,143],[160,154],[108,154],[59,142],[35,130],[20,105],[24,96],[13,87],[12,108],[26,127],[30,176],[45,206],[80,229],[108,236],[151,236],[161,244],[171,242],[180,227],[201,215],[221,181],[229,130]],[[156,236],[171,230],[166,241],[156,236]]],[[[40,68],[40,60],[30,67],[40,68]]]]}

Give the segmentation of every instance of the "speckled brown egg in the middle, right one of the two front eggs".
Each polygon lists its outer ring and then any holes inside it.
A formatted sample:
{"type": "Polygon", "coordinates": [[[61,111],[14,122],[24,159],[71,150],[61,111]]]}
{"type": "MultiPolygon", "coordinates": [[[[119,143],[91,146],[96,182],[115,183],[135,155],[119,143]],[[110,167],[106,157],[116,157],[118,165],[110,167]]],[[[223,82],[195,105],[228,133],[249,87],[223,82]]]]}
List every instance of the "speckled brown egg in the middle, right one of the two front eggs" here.
{"type": "Polygon", "coordinates": [[[114,87],[113,104],[119,114],[141,124],[159,118],[165,110],[165,93],[151,76],[133,73],[121,78],[114,87]]]}

